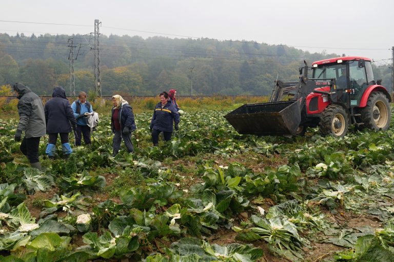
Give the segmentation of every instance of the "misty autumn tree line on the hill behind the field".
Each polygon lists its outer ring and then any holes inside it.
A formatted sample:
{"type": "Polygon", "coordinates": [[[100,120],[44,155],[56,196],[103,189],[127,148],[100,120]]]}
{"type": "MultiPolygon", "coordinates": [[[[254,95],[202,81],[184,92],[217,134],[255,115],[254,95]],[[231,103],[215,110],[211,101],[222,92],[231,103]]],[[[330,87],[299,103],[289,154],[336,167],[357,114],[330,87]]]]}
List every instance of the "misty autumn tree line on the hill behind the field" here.
{"type": "MultiPolygon", "coordinates": [[[[69,93],[68,35],[0,34],[0,85],[23,82],[38,95],[62,85],[69,93]]],[[[73,35],[75,91],[94,90],[92,44],[73,35]],[[81,43],[81,45],[79,45],[81,43]]],[[[254,41],[101,35],[103,95],[155,95],[176,89],[179,95],[269,95],[277,77],[298,81],[303,60],[337,54],[309,53],[285,45],[254,41]]],[[[391,71],[375,67],[376,78],[391,89],[391,71]]]]}

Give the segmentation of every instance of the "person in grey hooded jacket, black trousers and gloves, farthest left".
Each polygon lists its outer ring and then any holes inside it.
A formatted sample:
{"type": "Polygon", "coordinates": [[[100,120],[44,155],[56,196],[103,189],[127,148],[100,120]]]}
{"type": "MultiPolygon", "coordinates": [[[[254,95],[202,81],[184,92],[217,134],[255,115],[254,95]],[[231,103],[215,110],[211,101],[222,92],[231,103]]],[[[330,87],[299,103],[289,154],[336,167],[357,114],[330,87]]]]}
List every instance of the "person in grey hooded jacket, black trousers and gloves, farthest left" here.
{"type": "Polygon", "coordinates": [[[25,132],[25,137],[19,148],[23,155],[29,159],[30,166],[41,170],[38,160],[38,146],[40,138],[46,134],[43,101],[22,83],[15,83],[12,88],[19,99],[19,123],[14,139],[17,142],[21,141],[22,132],[25,132]]]}

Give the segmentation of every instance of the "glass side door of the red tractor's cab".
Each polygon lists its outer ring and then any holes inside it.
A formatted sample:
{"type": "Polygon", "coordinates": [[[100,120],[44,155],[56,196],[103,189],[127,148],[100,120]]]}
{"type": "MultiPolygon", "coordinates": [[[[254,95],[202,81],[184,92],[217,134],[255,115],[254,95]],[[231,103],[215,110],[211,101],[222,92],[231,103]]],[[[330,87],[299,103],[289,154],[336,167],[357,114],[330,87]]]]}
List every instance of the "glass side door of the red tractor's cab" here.
{"type": "Polygon", "coordinates": [[[360,100],[368,87],[368,83],[375,84],[370,61],[349,61],[349,89],[350,106],[359,106],[360,100]]]}

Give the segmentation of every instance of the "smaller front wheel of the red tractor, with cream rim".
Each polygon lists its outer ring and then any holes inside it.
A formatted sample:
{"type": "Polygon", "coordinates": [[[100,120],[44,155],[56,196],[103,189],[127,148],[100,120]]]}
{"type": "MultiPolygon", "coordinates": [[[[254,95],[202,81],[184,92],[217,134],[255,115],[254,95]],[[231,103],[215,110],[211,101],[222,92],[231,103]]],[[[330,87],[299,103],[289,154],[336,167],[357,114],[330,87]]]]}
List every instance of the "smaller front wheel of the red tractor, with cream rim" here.
{"type": "Polygon", "coordinates": [[[348,115],[342,106],[331,104],[322,112],[319,125],[323,135],[344,137],[349,125],[348,115]]]}

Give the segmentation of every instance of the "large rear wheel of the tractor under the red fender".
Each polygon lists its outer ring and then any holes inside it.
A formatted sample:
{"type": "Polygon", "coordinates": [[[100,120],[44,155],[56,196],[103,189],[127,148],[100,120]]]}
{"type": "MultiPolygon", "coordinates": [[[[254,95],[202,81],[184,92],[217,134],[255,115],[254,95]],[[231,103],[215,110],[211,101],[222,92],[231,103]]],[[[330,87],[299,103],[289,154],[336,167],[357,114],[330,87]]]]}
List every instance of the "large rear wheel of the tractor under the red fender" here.
{"type": "Polygon", "coordinates": [[[390,125],[391,112],[387,97],[381,92],[372,92],[367,105],[361,110],[361,120],[370,129],[383,131],[390,125]]]}

